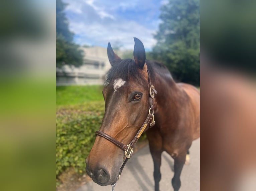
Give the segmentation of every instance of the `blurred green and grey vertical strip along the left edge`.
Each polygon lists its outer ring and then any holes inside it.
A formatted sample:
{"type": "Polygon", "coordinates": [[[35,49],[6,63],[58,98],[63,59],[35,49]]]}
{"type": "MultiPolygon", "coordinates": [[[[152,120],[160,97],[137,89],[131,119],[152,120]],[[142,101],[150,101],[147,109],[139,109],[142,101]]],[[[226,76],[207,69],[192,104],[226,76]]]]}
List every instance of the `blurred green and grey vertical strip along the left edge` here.
{"type": "Polygon", "coordinates": [[[55,187],[55,2],[0,3],[0,190],[55,187]]]}

